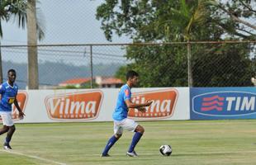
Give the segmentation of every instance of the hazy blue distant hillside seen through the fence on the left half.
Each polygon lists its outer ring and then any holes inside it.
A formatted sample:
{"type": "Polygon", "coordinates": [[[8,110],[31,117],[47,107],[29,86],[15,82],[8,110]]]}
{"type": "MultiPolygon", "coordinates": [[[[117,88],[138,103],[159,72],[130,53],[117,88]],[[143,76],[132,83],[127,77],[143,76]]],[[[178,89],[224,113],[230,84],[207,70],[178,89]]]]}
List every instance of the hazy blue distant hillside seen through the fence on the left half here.
{"type": "MultiPolygon", "coordinates": [[[[93,76],[113,76],[121,64],[94,64],[93,76]]],[[[13,63],[12,61],[2,61],[4,81],[7,80],[7,70],[14,68],[17,71],[17,84],[21,89],[26,88],[27,64],[13,63]]],[[[58,85],[59,82],[69,78],[90,77],[90,66],[75,66],[64,63],[44,62],[39,63],[39,82],[40,85],[58,85]]]]}

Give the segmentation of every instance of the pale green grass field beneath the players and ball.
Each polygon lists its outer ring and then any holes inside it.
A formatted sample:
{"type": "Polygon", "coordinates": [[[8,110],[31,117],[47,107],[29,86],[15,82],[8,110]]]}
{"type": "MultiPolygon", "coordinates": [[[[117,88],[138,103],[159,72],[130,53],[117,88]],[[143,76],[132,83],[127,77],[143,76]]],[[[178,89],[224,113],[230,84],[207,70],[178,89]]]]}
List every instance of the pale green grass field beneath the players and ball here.
{"type": "Polygon", "coordinates": [[[0,164],[256,164],[256,120],[139,123],[145,136],[135,148],[138,158],[126,157],[130,132],[111,148],[110,158],[100,158],[111,122],[17,124],[13,150],[0,149],[0,164]],[[170,157],[160,155],[161,144],[172,146],[170,157]]]}

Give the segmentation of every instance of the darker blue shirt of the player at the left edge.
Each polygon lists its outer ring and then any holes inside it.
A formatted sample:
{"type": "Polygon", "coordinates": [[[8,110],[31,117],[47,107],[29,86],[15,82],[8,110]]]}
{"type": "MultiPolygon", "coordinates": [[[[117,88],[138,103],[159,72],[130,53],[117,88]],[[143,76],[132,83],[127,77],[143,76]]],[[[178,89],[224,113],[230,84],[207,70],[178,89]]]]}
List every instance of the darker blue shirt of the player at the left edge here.
{"type": "Polygon", "coordinates": [[[17,96],[18,86],[16,83],[13,83],[13,87],[9,85],[8,82],[2,83],[0,86],[0,94],[1,94],[1,101],[0,101],[0,111],[2,112],[10,112],[12,111],[12,103],[17,96]]]}

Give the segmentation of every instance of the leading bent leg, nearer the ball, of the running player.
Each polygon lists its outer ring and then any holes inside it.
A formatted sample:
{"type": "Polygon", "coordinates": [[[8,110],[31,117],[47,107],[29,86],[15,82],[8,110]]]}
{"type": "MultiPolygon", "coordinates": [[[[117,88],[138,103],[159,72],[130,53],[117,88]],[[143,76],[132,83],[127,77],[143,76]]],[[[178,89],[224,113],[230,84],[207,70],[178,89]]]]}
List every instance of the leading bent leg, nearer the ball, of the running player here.
{"type": "Polygon", "coordinates": [[[127,119],[127,130],[134,131],[135,134],[131,140],[130,148],[128,149],[127,155],[130,157],[136,157],[138,156],[135,153],[135,146],[140,141],[141,136],[144,134],[145,129],[136,123],[134,120],[127,119]]]}

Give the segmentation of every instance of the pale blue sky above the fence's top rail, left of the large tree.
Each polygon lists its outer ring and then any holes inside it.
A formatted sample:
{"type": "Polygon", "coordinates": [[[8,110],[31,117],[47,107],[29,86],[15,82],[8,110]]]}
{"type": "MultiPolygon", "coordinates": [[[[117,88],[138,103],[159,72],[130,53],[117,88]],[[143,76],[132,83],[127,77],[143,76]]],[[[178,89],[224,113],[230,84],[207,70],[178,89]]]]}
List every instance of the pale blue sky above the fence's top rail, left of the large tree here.
{"type": "MultiPolygon", "coordinates": [[[[40,0],[38,19],[45,25],[45,39],[38,44],[110,43],[95,14],[102,0],[40,0]]],[[[2,21],[2,45],[26,45],[26,29],[17,22],[2,21]]],[[[112,43],[130,43],[128,37],[114,36],[112,43]]]]}

